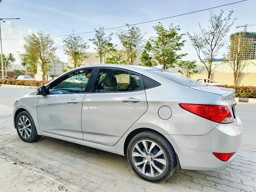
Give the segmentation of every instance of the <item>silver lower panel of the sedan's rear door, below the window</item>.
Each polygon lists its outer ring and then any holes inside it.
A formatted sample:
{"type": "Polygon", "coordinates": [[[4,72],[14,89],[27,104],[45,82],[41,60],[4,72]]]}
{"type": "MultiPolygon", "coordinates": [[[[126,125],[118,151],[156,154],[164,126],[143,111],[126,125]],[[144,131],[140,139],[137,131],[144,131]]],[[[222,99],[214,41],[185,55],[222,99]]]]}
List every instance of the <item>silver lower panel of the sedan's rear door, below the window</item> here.
{"type": "Polygon", "coordinates": [[[88,93],[82,106],[84,140],[114,145],[147,110],[146,93],[88,93]]]}

